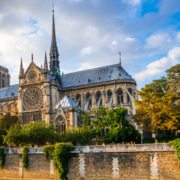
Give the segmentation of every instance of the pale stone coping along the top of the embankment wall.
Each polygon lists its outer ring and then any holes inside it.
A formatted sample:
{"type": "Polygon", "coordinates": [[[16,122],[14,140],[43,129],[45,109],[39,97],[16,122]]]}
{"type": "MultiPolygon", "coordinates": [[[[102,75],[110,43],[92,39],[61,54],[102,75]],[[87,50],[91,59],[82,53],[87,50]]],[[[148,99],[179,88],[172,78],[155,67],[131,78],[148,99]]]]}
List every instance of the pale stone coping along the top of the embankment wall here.
{"type": "MultiPolygon", "coordinates": [[[[44,146],[45,147],[45,146],[44,146]]],[[[43,148],[28,148],[28,154],[44,154],[43,148]]],[[[169,143],[160,144],[121,144],[121,145],[97,145],[76,146],[72,153],[100,153],[100,152],[165,152],[175,149],[169,143]]],[[[4,154],[21,154],[22,148],[5,148],[4,154]]]]}

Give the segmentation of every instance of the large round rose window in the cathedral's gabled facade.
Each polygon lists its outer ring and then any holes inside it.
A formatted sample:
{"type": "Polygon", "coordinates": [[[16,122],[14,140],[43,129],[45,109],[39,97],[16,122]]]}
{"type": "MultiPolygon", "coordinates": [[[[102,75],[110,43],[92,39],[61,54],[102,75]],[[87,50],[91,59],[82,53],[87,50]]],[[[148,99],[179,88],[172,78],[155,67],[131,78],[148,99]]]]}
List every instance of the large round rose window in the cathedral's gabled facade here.
{"type": "Polygon", "coordinates": [[[39,87],[28,88],[23,95],[23,109],[34,110],[43,108],[43,93],[39,87]]]}

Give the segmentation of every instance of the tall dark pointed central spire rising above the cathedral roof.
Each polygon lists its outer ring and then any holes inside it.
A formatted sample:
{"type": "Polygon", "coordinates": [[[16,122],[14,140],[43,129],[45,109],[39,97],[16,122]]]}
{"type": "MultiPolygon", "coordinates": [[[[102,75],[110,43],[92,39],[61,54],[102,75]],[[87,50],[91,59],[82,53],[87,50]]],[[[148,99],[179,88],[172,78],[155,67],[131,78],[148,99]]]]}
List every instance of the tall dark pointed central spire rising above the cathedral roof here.
{"type": "Polygon", "coordinates": [[[56,76],[57,69],[59,70],[59,53],[56,43],[54,8],[52,10],[52,40],[51,40],[51,48],[49,55],[50,55],[50,74],[56,76]]]}

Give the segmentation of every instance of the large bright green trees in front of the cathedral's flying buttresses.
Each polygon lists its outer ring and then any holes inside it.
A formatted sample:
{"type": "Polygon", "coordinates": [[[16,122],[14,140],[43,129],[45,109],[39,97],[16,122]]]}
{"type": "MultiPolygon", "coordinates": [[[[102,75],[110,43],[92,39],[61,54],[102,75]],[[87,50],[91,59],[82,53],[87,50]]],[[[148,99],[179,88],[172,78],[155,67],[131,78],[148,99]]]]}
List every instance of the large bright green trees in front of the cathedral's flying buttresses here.
{"type": "Polygon", "coordinates": [[[94,131],[99,142],[140,141],[138,131],[125,119],[125,108],[97,108],[91,114],[94,114],[94,119],[87,113],[82,114],[83,126],[94,131]]]}

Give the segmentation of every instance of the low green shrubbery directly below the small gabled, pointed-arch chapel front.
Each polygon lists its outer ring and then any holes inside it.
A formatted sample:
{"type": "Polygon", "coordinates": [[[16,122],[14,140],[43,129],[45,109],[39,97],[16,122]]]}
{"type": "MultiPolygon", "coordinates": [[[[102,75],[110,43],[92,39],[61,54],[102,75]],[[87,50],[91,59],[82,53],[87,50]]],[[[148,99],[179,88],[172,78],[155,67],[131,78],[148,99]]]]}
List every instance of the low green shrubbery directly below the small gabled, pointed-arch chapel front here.
{"type": "Polygon", "coordinates": [[[67,129],[65,133],[59,135],[59,142],[72,142],[76,144],[89,144],[94,138],[94,131],[85,127],[76,127],[73,130],[67,129]]]}

